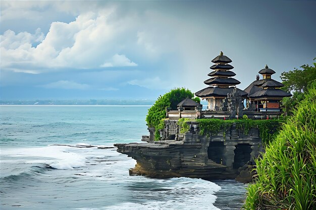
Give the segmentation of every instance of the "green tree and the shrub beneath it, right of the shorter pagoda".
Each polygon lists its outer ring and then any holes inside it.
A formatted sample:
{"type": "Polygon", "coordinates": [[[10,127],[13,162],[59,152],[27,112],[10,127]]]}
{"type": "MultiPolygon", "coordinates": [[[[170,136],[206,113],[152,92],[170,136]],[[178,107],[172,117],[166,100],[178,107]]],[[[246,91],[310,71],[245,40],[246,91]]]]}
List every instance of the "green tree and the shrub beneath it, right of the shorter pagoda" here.
{"type": "Polygon", "coordinates": [[[316,82],[316,62],[313,62],[313,65],[302,65],[300,66],[302,69],[295,68],[293,71],[281,74],[281,80],[284,85],[282,89],[293,92],[291,98],[283,98],[282,104],[285,115],[293,114],[293,110],[303,100],[304,92],[308,89],[308,86],[316,82]]]}

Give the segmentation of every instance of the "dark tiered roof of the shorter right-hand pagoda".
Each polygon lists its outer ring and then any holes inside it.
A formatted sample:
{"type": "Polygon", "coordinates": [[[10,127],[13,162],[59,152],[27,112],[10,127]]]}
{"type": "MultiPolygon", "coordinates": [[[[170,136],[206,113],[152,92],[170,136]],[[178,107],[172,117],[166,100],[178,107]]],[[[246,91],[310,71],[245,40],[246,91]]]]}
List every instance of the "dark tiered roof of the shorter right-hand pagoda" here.
{"type": "Polygon", "coordinates": [[[248,93],[248,97],[252,100],[261,100],[269,98],[282,99],[283,97],[292,96],[292,94],[279,89],[284,86],[282,83],[271,79],[271,75],[275,73],[268,65],[261,69],[259,74],[264,76],[264,79],[254,81],[244,90],[248,93]]]}

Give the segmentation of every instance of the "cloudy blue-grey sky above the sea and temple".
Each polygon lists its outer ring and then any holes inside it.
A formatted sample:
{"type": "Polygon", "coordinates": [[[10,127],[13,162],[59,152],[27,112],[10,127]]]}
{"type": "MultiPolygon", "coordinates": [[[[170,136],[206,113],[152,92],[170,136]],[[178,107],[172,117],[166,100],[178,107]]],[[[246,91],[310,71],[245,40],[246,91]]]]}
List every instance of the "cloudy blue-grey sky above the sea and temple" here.
{"type": "Polygon", "coordinates": [[[156,99],[316,57],[316,1],[1,1],[0,100],[156,99]]]}

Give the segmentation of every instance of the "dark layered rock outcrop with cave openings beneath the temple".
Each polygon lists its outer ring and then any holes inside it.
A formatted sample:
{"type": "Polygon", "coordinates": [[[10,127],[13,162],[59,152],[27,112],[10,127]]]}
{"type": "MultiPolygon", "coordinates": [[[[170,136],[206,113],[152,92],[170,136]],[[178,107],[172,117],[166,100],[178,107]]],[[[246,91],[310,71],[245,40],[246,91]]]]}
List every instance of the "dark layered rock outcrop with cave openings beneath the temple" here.
{"type": "Polygon", "coordinates": [[[177,120],[166,120],[161,131],[162,141],[147,143],[115,144],[119,153],[137,161],[130,175],[152,178],[191,177],[207,180],[232,179],[251,181],[251,163],[262,152],[259,130],[251,128],[248,134],[236,129],[216,135],[199,135],[198,122],[187,122],[190,129],[181,134],[177,120]],[[170,138],[174,139],[170,140],[170,138]],[[250,178],[249,178],[250,177],[250,178]]]}

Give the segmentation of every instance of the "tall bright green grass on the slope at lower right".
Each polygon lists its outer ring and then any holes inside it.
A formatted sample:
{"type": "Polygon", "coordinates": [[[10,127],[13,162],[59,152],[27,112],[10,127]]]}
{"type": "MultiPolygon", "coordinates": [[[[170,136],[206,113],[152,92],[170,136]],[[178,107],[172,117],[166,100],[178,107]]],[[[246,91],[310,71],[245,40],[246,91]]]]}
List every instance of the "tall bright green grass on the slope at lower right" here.
{"type": "Polygon", "coordinates": [[[316,209],[315,84],[256,165],[243,209],[316,209]]]}

